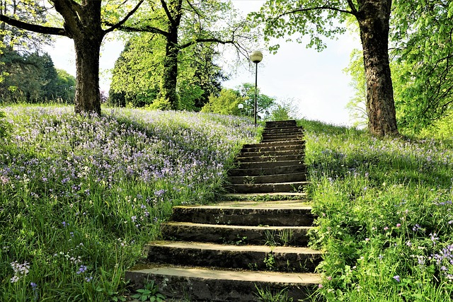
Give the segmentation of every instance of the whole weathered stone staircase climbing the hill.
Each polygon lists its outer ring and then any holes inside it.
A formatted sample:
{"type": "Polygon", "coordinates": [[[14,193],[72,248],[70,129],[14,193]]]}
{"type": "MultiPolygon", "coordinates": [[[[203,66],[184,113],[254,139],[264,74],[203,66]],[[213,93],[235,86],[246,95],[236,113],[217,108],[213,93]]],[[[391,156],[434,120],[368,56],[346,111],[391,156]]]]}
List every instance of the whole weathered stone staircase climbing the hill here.
{"type": "Polygon", "coordinates": [[[303,161],[302,129],[266,122],[263,141],[243,146],[229,171],[233,201],[174,207],[164,240],[144,248],[147,263],[126,279],[155,281],[168,301],[259,301],[257,288],[306,301],[321,282],[321,252],[306,247],[314,217],[303,161]]]}

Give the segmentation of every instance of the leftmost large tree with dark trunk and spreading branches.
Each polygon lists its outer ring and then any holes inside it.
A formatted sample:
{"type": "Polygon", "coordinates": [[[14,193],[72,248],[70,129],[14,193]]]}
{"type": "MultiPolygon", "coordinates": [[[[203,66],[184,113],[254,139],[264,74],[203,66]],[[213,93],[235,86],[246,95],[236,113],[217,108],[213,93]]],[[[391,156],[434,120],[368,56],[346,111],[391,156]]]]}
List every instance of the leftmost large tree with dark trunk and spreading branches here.
{"type": "MultiPolygon", "coordinates": [[[[49,0],[59,13],[60,26],[42,25],[35,18],[18,18],[11,12],[0,12],[0,21],[23,30],[46,35],[61,35],[74,40],[76,51],[75,112],[101,113],[99,93],[99,54],[103,38],[132,16],[144,0],[134,1],[59,1],[49,0]],[[105,4],[103,6],[103,4],[105,4]],[[128,13],[123,13],[130,9],[128,13]],[[122,15],[122,16],[120,16],[122,15]],[[103,24],[110,18],[110,27],[103,24]]],[[[17,1],[26,4],[29,1],[17,1]]]]}

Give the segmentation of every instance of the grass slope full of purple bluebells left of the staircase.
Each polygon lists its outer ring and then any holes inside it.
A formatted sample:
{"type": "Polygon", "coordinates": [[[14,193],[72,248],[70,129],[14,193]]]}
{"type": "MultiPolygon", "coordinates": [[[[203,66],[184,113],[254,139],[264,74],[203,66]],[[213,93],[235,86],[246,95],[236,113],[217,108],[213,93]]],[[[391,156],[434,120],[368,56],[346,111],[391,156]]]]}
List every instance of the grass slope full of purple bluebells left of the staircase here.
{"type": "Polygon", "coordinates": [[[121,301],[177,204],[212,202],[256,129],[239,117],[3,108],[0,301],[121,301]]]}

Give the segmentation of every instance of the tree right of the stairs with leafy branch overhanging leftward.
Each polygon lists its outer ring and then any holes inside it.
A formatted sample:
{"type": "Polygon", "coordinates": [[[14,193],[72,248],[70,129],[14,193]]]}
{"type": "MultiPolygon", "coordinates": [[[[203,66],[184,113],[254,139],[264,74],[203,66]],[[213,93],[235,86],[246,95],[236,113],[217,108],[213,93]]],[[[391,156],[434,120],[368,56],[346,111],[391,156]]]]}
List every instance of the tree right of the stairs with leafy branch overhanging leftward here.
{"type": "MultiPolygon", "coordinates": [[[[309,35],[309,47],[322,50],[321,37],[345,31],[347,18],[355,18],[360,30],[367,81],[369,132],[378,136],[398,134],[394,93],[389,65],[389,19],[391,0],[268,0],[254,20],[264,23],[265,39],[299,33],[297,42],[309,35]]],[[[276,51],[276,47],[270,47],[276,51]]]]}

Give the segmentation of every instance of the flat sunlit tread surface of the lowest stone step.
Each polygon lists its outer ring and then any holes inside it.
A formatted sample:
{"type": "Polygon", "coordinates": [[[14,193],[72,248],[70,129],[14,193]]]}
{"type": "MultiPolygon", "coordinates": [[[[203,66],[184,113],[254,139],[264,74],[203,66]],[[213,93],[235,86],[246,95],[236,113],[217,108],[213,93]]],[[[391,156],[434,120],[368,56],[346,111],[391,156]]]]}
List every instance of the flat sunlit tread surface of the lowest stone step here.
{"type": "Polygon", "coordinates": [[[193,277],[197,279],[256,281],[286,284],[319,284],[321,282],[321,276],[313,273],[228,270],[206,267],[179,267],[175,265],[140,265],[137,269],[132,267],[129,272],[160,274],[176,277],[193,277]]]}

